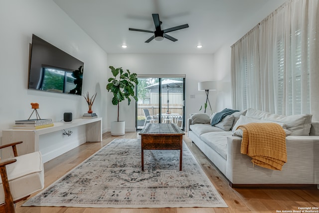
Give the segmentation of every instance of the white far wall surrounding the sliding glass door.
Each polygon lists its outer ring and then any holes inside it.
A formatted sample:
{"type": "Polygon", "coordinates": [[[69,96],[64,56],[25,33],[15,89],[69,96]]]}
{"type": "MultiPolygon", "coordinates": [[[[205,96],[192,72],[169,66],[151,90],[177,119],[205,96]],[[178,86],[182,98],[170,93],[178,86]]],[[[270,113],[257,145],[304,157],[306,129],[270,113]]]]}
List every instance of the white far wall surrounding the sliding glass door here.
{"type": "MultiPolygon", "coordinates": [[[[185,110],[189,113],[198,112],[205,102],[205,92],[198,91],[199,81],[218,80],[218,70],[213,69],[212,54],[108,54],[108,64],[123,67],[137,74],[185,74],[185,110]],[[195,98],[190,98],[195,95],[195,98]]],[[[109,69],[108,77],[112,77],[109,69]]],[[[213,110],[216,110],[216,94],[211,91],[209,98],[213,110]]],[[[108,94],[108,128],[110,122],[116,120],[117,107],[112,105],[112,94],[108,94]]],[[[230,107],[224,105],[224,107],[230,107]]],[[[135,131],[135,102],[128,106],[127,101],[120,105],[120,120],[126,120],[126,131],[135,131]]],[[[108,129],[110,131],[110,129],[108,129]]]]}

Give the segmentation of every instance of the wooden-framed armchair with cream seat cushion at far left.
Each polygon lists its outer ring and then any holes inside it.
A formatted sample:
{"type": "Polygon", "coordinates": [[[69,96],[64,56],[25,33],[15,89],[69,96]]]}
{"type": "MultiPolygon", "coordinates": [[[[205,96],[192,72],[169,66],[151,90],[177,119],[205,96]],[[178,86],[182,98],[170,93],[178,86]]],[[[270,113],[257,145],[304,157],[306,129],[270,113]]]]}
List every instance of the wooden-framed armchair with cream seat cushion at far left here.
{"type": "Polygon", "coordinates": [[[17,156],[16,145],[22,141],[0,146],[12,147],[14,158],[0,161],[0,212],[14,213],[15,204],[44,188],[44,170],[40,152],[17,156]],[[3,189],[2,189],[3,188],[3,189]]]}

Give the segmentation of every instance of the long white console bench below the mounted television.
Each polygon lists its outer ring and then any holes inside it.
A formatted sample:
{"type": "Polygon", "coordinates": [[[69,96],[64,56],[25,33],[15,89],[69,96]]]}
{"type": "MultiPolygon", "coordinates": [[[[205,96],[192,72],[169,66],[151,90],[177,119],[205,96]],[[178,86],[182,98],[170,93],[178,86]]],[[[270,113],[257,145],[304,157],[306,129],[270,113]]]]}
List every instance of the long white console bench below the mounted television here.
{"type": "MultiPolygon", "coordinates": [[[[102,142],[102,118],[91,119],[74,119],[71,122],[54,122],[53,127],[47,127],[37,130],[29,129],[8,129],[2,130],[2,145],[9,144],[16,141],[23,141],[22,144],[16,146],[18,155],[23,155],[40,150],[41,135],[50,134],[57,131],[63,131],[70,128],[75,128],[85,125],[85,138],[86,142],[102,142]]],[[[84,128],[84,127],[83,127],[84,128]]],[[[44,143],[44,142],[42,142],[44,143]]],[[[57,145],[59,146],[59,145],[57,145]]],[[[76,145],[73,145],[76,146],[76,145]]],[[[59,147],[56,147],[59,150],[59,147]]],[[[61,148],[60,148],[61,149],[61,148]]],[[[64,148],[59,150],[56,155],[61,155],[63,152],[67,152],[64,148]],[[64,151],[63,151],[64,150],[64,151]]],[[[44,153],[42,153],[43,155],[44,153]]],[[[44,154],[45,155],[45,154],[44,154]]],[[[1,158],[13,157],[12,149],[3,149],[1,152],[1,158]]],[[[53,156],[54,157],[54,156],[53,156]]],[[[53,157],[46,157],[44,162],[51,160],[53,157]],[[51,159],[50,159],[51,158],[51,159]]]]}

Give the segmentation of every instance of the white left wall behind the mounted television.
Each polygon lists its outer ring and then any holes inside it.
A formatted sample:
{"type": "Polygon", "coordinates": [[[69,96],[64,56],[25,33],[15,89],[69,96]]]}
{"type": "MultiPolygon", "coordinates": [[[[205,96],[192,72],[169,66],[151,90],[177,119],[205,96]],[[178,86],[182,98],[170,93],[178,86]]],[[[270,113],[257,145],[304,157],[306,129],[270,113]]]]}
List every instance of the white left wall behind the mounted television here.
{"type": "MultiPolygon", "coordinates": [[[[41,118],[54,121],[62,120],[64,112],[80,118],[88,110],[81,96],[27,89],[32,33],[84,62],[82,93],[98,93],[93,111],[106,122],[107,54],[52,0],[0,1],[0,29],[0,130],[10,129],[15,120],[27,119],[31,102],[39,103],[41,118]]],[[[46,140],[73,140],[62,132],[51,138],[46,140]]]]}

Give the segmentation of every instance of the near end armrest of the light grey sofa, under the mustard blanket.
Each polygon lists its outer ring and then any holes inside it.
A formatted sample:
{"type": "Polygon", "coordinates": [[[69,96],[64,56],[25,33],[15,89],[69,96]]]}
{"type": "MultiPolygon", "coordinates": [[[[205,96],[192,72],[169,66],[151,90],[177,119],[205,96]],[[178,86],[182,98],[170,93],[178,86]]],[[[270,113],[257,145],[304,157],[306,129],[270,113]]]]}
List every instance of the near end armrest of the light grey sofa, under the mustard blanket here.
{"type": "Polygon", "coordinates": [[[264,179],[265,176],[276,179],[278,184],[319,183],[319,136],[287,136],[288,156],[282,171],[254,166],[249,156],[240,153],[241,140],[241,137],[227,137],[225,176],[232,184],[271,183],[264,179]],[[296,173],[295,171],[302,172],[296,173]],[[290,179],[285,180],[286,177],[290,179]]]}

